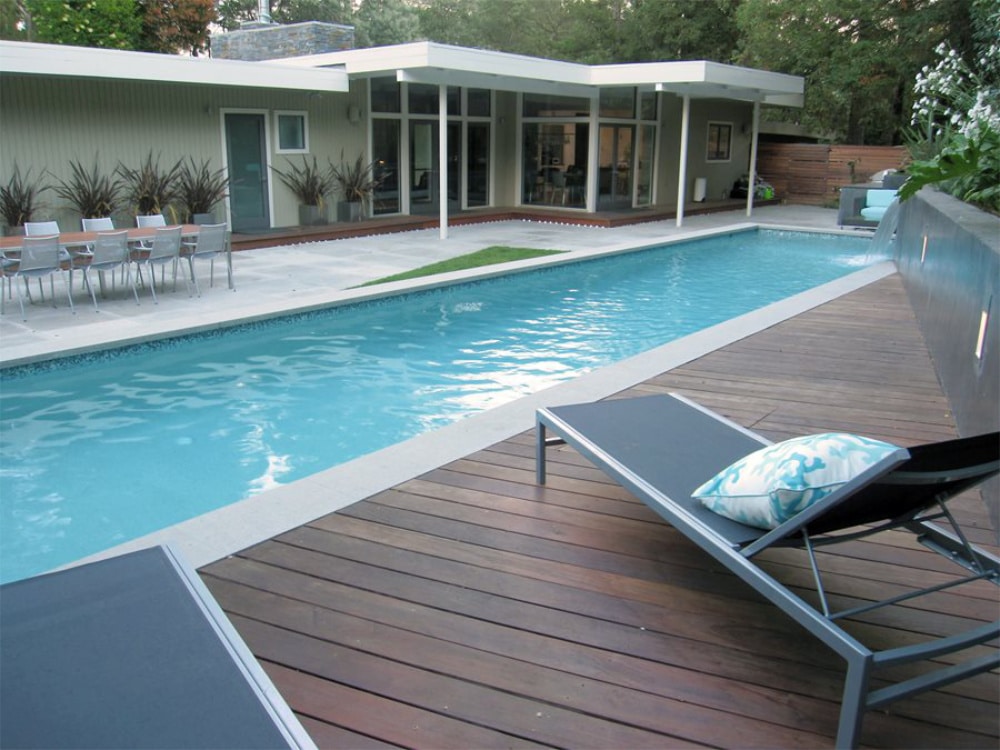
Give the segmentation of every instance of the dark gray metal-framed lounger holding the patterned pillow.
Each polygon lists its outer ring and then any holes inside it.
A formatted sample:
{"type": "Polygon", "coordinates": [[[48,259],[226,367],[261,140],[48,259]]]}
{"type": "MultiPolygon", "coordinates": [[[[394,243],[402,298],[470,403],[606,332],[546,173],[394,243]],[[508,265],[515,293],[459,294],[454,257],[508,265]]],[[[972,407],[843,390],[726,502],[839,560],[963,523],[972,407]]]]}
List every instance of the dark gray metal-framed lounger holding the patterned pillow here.
{"type": "Polygon", "coordinates": [[[953,522],[954,533],[931,523],[951,521],[944,501],[998,473],[998,433],[900,449],[777,529],[765,531],[709,511],[691,498],[691,492],[736,459],[770,441],[682,396],[611,399],[539,409],[537,430],[540,484],[545,483],[546,446],[571,445],[844,658],[847,675],[838,747],[857,745],[866,710],[1000,666],[1000,653],[993,651],[870,690],[873,672],[879,667],[924,661],[985,643],[1000,635],[1000,620],[948,638],[886,651],[869,649],[837,624],[841,617],[945,587],[980,579],[1000,583],[1000,560],[970,545],[953,522]],[[859,529],[859,524],[868,526],[859,529]],[[947,586],[831,612],[814,548],[885,528],[914,532],[919,541],[966,567],[970,574],[947,586]],[[820,609],[754,563],[756,554],[778,545],[802,547],[809,554],[820,609]]]}

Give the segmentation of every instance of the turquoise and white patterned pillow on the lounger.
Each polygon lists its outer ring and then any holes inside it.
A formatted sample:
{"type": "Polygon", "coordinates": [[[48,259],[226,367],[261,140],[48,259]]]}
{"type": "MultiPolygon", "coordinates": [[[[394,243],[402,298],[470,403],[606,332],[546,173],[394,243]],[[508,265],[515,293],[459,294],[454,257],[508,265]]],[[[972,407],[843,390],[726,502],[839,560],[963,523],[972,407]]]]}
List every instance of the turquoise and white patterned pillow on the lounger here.
{"type": "Polygon", "coordinates": [[[807,435],[744,456],[692,494],[719,515],[773,529],[896,450],[859,435],[807,435]]]}

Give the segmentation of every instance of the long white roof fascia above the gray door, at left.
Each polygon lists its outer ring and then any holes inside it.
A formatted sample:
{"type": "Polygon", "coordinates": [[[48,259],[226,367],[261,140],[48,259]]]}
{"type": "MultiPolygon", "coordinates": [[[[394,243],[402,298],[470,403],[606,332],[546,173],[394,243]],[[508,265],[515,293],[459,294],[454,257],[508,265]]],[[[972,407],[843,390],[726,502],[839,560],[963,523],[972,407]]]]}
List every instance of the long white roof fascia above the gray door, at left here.
{"type": "Polygon", "coordinates": [[[289,75],[287,67],[273,63],[31,42],[0,42],[2,73],[299,91],[348,90],[347,74],[343,71],[305,69],[289,75]]]}

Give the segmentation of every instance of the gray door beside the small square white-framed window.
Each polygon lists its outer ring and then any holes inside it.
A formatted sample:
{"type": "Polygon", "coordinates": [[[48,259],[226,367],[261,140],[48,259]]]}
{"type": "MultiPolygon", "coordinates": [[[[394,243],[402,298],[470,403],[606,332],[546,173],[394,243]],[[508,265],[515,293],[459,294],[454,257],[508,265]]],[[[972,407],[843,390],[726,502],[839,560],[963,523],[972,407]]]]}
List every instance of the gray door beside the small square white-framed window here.
{"type": "Polygon", "coordinates": [[[264,115],[227,112],[225,117],[233,231],[269,229],[264,115]]]}

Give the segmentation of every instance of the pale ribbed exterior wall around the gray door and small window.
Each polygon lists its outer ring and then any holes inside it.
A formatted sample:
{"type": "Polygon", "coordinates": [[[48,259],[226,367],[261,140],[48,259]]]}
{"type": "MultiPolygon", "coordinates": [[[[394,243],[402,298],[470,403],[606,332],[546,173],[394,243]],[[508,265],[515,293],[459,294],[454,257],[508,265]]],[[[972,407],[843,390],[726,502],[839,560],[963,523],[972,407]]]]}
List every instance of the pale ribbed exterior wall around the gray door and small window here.
{"type": "MultiPolygon", "coordinates": [[[[0,101],[4,181],[15,163],[22,173],[44,171],[54,182],[70,175],[74,160],[89,169],[96,158],[98,167],[110,172],[120,162],[138,166],[150,151],[161,166],[190,156],[221,167],[226,109],[266,111],[269,128],[275,110],[307,112],[311,153],[320,164],[339,160],[341,148],[353,158],[364,146],[364,126],[345,123],[347,94],[4,75],[0,101]]],[[[274,158],[272,154],[272,162],[274,158]]],[[[294,199],[281,195],[287,193],[283,186],[277,190],[282,200],[274,223],[297,223],[294,199]]],[[[55,219],[67,231],[79,226],[79,215],[54,192],[44,193],[43,203],[35,218],[55,219]]],[[[129,208],[121,206],[115,219],[131,224],[129,208]]]]}

